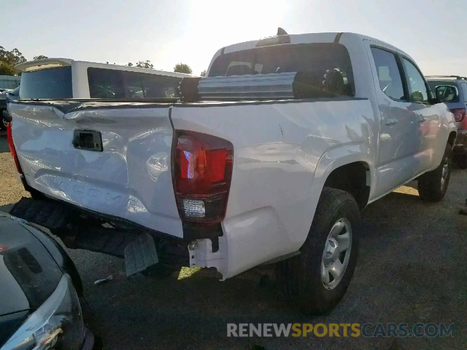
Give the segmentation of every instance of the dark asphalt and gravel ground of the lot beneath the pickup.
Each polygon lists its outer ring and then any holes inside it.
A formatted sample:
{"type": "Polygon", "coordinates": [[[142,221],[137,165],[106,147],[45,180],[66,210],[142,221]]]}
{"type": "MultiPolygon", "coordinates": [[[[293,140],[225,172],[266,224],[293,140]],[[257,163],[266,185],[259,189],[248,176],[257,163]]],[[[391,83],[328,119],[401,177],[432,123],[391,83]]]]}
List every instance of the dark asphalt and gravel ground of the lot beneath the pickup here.
{"type": "MultiPolygon", "coordinates": [[[[0,210],[26,196],[14,177],[14,162],[0,137],[0,210]]],[[[209,272],[184,269],[164,280],[127,279],[120,259],[69,251],[95,309],[107,349],[466,349],[467,171],[455,170],[442,203],[422,203],[402,187],[369,205],[354,279],[329,315],[304,318],[277,297],[269,270],[255,269],[218,282],[209,272]],[[94,280],[114,280],[94,285],[94,280]],[[229,322],[455,322],[445,338],[227,338],[229,322]]]]}

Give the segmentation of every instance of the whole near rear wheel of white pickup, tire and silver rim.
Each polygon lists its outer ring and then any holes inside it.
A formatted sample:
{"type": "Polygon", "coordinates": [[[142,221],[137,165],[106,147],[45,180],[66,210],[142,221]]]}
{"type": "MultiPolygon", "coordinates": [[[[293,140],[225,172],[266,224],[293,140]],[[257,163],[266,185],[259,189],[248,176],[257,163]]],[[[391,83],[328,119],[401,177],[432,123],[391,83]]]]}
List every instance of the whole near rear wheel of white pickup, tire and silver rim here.
{"type": "Polygon", "coordinates": [[[353,196],[324,188],[300,254],[277,264],[277,278],[295,307],[322,314],[342,299],[358,255],[360,210],[353,196]]]}

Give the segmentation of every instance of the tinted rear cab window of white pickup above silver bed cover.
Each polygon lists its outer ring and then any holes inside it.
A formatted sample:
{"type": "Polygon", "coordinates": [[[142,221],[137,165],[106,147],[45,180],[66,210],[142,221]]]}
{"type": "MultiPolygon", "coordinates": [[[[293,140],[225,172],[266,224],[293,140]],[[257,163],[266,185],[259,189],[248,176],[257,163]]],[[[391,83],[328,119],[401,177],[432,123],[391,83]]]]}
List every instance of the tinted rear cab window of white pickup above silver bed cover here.
{"type": "Polygon", "coordinates": [[[354,95],[349,54],[344,45],[334,43],[265,46],[227,53],[215,59],[209,77],[286,72],[304,72],[307,85],[317,91],[325,86],[326,77],[333,76],[339,84],[335,94],[354,95]]]}

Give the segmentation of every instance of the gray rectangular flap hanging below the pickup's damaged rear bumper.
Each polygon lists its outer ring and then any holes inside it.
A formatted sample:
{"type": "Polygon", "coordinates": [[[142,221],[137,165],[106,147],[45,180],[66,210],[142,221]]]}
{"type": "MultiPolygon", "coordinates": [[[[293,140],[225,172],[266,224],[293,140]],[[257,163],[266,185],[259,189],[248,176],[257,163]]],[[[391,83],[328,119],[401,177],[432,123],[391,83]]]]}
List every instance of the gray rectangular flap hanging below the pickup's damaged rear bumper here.
{"type": "Polygon", "coordinates": [[[159,262],[154,238],[149,233],[143,233],[125,247],[125,269],[127,277],[144,272],[159,262]]]}

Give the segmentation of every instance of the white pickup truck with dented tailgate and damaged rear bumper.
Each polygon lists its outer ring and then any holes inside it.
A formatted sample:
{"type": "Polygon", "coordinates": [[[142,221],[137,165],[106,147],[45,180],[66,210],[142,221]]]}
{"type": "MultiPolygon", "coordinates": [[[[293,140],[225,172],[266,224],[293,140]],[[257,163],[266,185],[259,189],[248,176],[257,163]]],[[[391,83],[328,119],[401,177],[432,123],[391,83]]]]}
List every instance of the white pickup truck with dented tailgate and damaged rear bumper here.
{"type": "Polygon", "coordinates": [[[276,263],[286,298],[321,313],[354,273],[360,210],[414,179],[422,199],[446,193],[453,115],[385,42],[242,42],[180,94],[12,102],[9,144],[32,199],[11,214],[125,257],[128,275],[188,265],[226,279],[276,263]]]}

